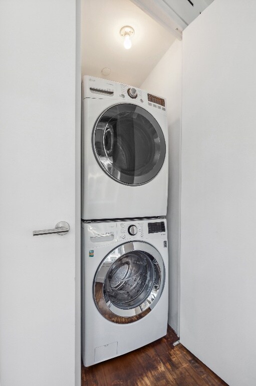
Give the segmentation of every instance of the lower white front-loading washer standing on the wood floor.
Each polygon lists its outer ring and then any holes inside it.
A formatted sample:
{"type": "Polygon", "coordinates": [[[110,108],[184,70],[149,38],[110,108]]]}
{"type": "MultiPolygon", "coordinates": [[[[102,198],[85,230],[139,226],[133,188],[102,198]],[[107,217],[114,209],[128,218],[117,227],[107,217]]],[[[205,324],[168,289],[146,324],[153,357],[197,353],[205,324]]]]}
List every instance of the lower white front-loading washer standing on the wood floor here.
{"type": "Polygon", "coordinates": [[[84,365],[166,335],[166,220],[83,222],[82,240],[84,365]]]}

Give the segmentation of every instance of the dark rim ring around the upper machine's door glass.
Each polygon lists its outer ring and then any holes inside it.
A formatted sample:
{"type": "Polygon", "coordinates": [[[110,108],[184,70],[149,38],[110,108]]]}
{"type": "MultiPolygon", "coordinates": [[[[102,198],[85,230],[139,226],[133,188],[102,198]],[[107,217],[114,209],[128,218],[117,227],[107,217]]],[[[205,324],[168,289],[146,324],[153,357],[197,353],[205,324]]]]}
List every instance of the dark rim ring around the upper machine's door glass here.
{"type": "MultiPolygon", "coordinates": [[[[94,128],[93,128],[93,132],[92,132],[92,148],[93,148],[94,156],[95,156],[95,158],[96,158],[96,160],[97,160],[99,166],[100,166],[101,169],[104,171],[104,173],[106,173],[110,178],[112,178],[112,179],[115,180],[116,182],[119,182],[119,183],[121,183],[121,184],[123,184],[123,185],[127,185],[127,186],[139,186],[139,185],[144,185],[145,183],[148,183],[148,182],[152,181],[152,179],[154,179],[154,178],[157,176],[157,174],[161,171],[161,169],[162,169],[162,167],[163,167],[163,164],[164,164],[165,155],[166,155],[165,137],[164,137],[163,131],[162,131],[162,129],[161,129],[161,126],[159,125],[159,123],[157,122],[157,120],[155,119],[155,117],[154,117],[148,110],[144,109],[143,107],[138,106],[138,105],[136,105],[136,104],[134,104],[134,103],[127,103],[127,102],[123,102],[123,103],[121,102],[121,103],[117,103],[117,104],[115,104],[115,105],[112,105],[112,106],[108,107],[106,110],[104,110],[104,112],[99,116],[99,118],[98,118],[97,121],[95,122],[95,125],[94,125],[94,128]],[[142,110],[146,111],[146,113],[149,114],[149,115],[153,118],[153,120],[156,122],[156,124],[157,124],[156,127],[155,127],[154,125],[153,125],[153,126],[154,126],[154,129],[155,129],[155,131],[156,131],[158,137],[159,137],[159,140],[160,140],[160,146],[161,146],[161,145],[164,145],[164,150],[161,149],[160,157],[159,157],[159,159],[158,159],[158,161],[157,161],[157,163],[158,163],[158,162],[161,162],[161,166],[159,167],[157,173],[155,173],[155,174],[153,175],[153,177],[151,177],[151,178],[149,178],[149,179],[147,179],[146,181],[143,181],[143,182],[128,183],[128,182],[124,182],[124,181],[118,179],[116,176],[114,176],[113,174],[111,174],[111,173],[103,166],[103,164],[102,164],[102,162],[101,162],[101,159],[100,159],[100,157],[99,157],[99,155],[98,155],[98,153],[97,153],[97,150],[96,150],[96,146],[95,146],[95,135],[96,135],[96,130],[97,130],[97,127],[98,127],[98,124],[99,124],[101,118],[104,116],[104,114],[105,114],[108,110],[112,109],[113,107],[120,106],[120,105],[133,105],[133,106],[138,107],[139,109],[142,109],[142,110]]],[[[157,165],[157,163],[156,163],[156,165],[157,165]]],[[[155,166],[156,166],[156,165],[155,165],[155,166]]],[[[153,167],[153,169],[155,168],[155,166],[153,167]]]]}

